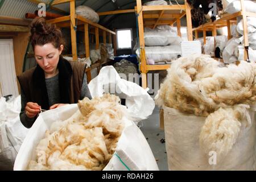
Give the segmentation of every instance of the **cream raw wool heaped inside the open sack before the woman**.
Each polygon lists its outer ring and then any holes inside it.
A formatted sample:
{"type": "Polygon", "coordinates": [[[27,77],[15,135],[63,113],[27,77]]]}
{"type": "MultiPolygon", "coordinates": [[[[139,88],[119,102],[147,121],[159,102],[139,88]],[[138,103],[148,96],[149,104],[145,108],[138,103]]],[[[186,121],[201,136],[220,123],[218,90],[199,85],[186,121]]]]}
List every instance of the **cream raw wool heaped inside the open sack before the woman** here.
{"type": "Polygon", "coordinates": [[[126,107],[119,102],[110,94],[79,101],[79,111],[46,131],[28,170],[104,169],[125,126],[126,107]]]}

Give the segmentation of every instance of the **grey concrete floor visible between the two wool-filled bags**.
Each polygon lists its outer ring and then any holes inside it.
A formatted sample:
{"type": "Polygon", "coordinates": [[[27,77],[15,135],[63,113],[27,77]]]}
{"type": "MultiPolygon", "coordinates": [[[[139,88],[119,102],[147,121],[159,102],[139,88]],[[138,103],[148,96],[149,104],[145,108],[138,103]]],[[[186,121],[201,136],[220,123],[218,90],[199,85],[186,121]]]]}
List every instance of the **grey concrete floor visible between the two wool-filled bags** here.
{"type": "Polygon", "coordinates": [[[152,115],[139,123],[142,133],[155,156],[160,171],[168,170],[166,143],[161,143],[164,138],[164,130],[159,129],[159,107],[155,107],[152,115]]]}

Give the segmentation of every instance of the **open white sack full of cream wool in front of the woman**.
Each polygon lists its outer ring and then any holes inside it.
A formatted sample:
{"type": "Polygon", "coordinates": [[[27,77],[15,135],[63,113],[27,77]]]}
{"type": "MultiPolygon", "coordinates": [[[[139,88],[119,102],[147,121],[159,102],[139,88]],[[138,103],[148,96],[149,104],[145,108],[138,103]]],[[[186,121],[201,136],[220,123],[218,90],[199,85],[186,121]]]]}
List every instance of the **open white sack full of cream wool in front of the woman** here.
{"type": "Polygon", "coordinates": [[[117,96],[104,94],[41,113],[14,170],[158,170],[117,96]]]}

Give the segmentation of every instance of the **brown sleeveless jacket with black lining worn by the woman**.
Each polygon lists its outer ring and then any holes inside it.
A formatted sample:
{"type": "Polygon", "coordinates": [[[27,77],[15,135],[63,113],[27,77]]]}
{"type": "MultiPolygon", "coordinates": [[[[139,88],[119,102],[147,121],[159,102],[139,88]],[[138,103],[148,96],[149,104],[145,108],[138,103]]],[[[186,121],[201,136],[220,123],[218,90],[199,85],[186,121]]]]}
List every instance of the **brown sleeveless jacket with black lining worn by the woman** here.
{"type": "MultiPolygon", "coordinates": [[[[60,57],[57,68],[61,103],[75,104],[79,101],[85,66],[80,62],[67,61],[60,57]]],[[[39,65],[22,73],[18,80],[27,102],[35,102],[42,106],[42,109],[49,109],[44,71],[39,65]]]]}

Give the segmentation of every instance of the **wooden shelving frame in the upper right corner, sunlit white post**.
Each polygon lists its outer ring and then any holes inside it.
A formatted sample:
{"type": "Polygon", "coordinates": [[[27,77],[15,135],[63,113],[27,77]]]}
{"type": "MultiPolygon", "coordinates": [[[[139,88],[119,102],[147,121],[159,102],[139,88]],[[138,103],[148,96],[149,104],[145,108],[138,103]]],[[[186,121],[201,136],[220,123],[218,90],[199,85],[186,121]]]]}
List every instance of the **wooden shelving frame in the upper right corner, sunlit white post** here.
{"type": "MultiPolygon", "coordinates": [[[[195,37],[198,38],[198,32],[203,32],[204,44],[206,44],[207,31],[212,32],[212,36],[217,36],[217,29],[222,27],[228,27],[228,39],[232,38],[231,34],[231,25],[237,24],[237,17],[242,17],[243,19],[243,35],[245,37],[244,46],[249,46],[248,33],[247,33],[247,17],[252,16],[256,17],[256,13],[249,13],[245,11],[244,0],[241,1],[241,11],[234,14],[224,14],[220,19],[217,19],[215,22],[208,22],[199,27],[193,28],[195,32],[195,37]]],[[[248,59],[248,55],[245,49],[245,60],[248,59]]]]}

